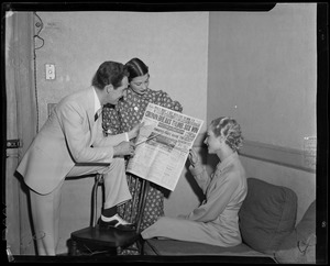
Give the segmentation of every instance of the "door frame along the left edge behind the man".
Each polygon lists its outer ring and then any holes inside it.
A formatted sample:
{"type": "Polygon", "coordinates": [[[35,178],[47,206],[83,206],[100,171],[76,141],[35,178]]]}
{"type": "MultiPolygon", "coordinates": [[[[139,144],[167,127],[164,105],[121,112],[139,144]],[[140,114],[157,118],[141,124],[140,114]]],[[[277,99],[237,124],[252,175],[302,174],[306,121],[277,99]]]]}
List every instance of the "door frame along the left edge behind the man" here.
{"type": "Polygon", "coordinates": [[[20,144],[6,147],[6,240],[13,255],[35,254],[29,189],[15,173],[36,134],[34,31],[33,12],[6,13],[7,140],[20,144]]]}

